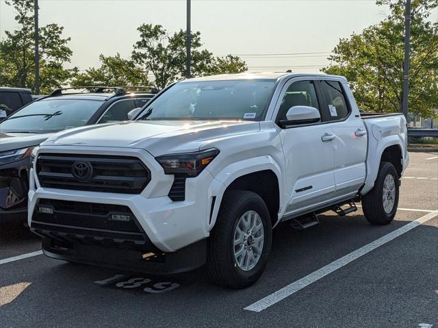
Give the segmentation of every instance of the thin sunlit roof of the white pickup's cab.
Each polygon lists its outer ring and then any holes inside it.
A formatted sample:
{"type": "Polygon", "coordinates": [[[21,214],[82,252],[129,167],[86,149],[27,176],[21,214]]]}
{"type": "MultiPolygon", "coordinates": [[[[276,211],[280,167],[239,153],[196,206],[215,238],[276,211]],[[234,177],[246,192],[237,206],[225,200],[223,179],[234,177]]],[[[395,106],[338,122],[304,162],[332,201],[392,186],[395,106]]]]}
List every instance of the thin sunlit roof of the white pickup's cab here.
{"type": "Polygon", "coordinates": [[[326,74],[318,74],[318,73],[289,73],[289,72],[266,72],[266,73],[239,73],[239,74],[221,74],[221,75],[213,75],[206,77],[196,77],[194,79],[186,79],[186,82],[191,81],[224,81],[231,79],[272,79],[276,80],[279,77],[294,77],[294,76],[309,76],[309,77],[337,77],[345,79],[345,77],[337,76],[337,75],[326,75],[326,74]]]}

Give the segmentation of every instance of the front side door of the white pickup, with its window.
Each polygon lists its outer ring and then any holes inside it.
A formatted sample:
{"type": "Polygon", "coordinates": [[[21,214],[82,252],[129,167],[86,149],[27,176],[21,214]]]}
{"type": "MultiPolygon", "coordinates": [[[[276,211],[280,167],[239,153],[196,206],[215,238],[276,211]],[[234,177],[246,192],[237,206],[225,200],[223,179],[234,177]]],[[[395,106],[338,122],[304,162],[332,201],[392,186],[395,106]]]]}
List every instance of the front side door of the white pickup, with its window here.
{"type": "MultiPolygon", "coordinates": [[[[321,111],[316,81],[292,79],[283,88],[281,103],[277,104],[276,123],[286,120],[289,108],[305,105],[321,111]]],[[[296,214],[318,207],[335,192],[335,153],[332,127],[324,122],[289,125],[280,130],[286,160],[285,214],[296,214]]]]}

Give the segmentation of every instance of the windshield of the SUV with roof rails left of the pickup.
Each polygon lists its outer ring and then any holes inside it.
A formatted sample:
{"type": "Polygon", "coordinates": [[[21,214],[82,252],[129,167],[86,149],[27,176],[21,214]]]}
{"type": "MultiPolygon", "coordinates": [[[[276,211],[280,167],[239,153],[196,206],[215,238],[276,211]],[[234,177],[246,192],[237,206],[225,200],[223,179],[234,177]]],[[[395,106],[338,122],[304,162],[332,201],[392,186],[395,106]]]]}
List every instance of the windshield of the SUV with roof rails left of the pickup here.
{"type": "Polygon", "coordinates": [[[0,123],[0,132],[44,134],[81,127],[103,101],[88,99],[47,99],[27,105],[0,123]]]}

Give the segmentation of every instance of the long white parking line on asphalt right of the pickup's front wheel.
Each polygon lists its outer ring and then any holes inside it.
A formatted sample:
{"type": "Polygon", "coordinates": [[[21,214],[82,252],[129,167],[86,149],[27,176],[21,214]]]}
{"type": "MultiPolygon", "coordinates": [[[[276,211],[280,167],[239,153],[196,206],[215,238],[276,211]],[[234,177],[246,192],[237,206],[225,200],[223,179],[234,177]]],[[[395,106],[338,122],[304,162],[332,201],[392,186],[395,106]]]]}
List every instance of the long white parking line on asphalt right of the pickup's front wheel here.
{"type": "Polygon", "coordinates": [[[302,290],[302,288],[305,288],[309,286],[311,283],[314,283],[315,281],[318,281],[325,277],[326,275],[329,275],[333,273],[335,270],[338,270],[339,268],[342,268],[343,266],[346,266],[350,262],[358,259],[359,257],[362,257],[363,255],[370,253],[370,251],[373,251],[374,249],[381,247],[383,244],[386,244],[387,242],[390,242],[391,240],[401,236],[402,234],[406,234],[411,229],[418,227],[422,223],[425,223],[428,220],[431,220],[435,218],[435,216],[438,216],[438,210],[426,214],[422,216],[421,218],[417,218],[417,220],[412,221],[411,223],[408,223],[407,225],[404,225],[401,228],[398,228],[391,233],[378,238],[377,240],[374,240],[374,242],[370,242],[370,244],[366,244],[365,246],[361,247],[360,249],[357,249],[356,251],[353,251],[350,254],[347,254],[338,260],[335,260],[334,262],[331,262],[331,264],[328,264],[324,266],[323,268],[320,268],[319,270],[316,270],[315,272],[311,273],[310,275],[307,275],[283,288],[281,290],[277,290],[276,292],[268,295],[267,297],[261,299],[260,301],[257,301],[247,307],[244,308],[244,310],[253,311],[253,312],[261,312],[268,307],[279,303],[279,301],[282,301],[286,297],[289,297],[290,295],[298,292],[299,290],[302,290]]]}

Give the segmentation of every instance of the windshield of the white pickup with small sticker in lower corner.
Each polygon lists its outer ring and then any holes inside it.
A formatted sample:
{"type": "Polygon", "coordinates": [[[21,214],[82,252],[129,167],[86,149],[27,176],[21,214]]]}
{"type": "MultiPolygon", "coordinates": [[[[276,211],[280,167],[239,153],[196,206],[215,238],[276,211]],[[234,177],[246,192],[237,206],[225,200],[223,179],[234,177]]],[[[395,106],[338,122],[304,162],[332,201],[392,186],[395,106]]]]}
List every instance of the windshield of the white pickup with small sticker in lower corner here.
{"type": "Polygon", "coordinates": [[[194,81],[175,84],[150,103],[138,120],[261,121],[272,80],[194,81]]]}

